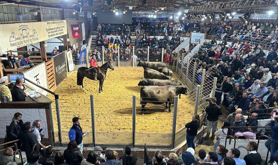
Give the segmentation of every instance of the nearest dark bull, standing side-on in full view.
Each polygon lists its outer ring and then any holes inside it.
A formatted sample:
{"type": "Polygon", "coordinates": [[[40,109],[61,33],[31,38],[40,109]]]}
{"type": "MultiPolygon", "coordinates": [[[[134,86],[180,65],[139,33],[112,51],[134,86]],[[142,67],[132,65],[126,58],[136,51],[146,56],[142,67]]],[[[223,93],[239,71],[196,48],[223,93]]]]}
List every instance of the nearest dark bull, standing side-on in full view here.
{"type": "Polygon", "coordinates": [[[145,106],[148,102],[153,104],[165,102],[166,108],[168,103],[168,110],[171,112],[170,106],[174,103],[174,97],[179,94],[187,94],[186,86],[143,86],[140,90],[141,112],[146,112],[145,106]]]}

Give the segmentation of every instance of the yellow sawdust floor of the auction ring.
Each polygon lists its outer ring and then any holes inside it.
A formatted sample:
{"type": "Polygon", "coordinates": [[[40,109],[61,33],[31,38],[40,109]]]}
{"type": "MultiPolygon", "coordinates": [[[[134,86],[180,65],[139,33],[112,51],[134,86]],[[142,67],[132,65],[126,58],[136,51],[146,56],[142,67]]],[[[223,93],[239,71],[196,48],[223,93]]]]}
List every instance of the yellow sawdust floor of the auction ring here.
{"type": "MultiPolygon", "coordinates": [[[[150,113],[140,114],[141,86],[138,86],[138,83],[143,77],[143,72],[143,67],[115,67],[115,71],[107,72],[107,77],[103,83],[104,92],[102,93],[98,93],[99,81],[93,81],[86,77],[83,80],[86,91],[82,91],[81,87],[76,84],[76,71],[64,79],[54,91],[59,94],[63,140],[68,141],[67,133],[72,126],[72,118],[75,116],[81,119],[80,124],[83,132],[87,130],[91,132],[90,94],[94,95],[95,100],[96,136],[111,135],[111,133],[106,134],[104,132],[114,132],[113,135],[118,136],[116,134],[120,132],[127,139],[132,139],[128,137],[132,136],[132,95],[136,96],[137,136],[142,136],[142,134],[140,135],[141,132],[171,135],[173,113],[166,112],[165,104],[148,103],[146,108],[150,113]]],[[[174,79],[178,79],[175,73],[174,79]]],[[[178,100],[176,131],[191,121],[191,115],[194,113],[194,100],[188,100],[187,97],[188,95],[182,95],[181,99],[178,100]]],[[[54,100],[54,96],[49,98],[54,100]]],[[[55,107],[54,103],[52,107],[55,107]]],[[[171,107],[171,111],[173,112],[173,107],[171,107]]],[[[57,121],[56,111],[53,113],[54,121],[57,121]]],[[[58,131],[57,125],[54,126],[54,129],[55,132],[58,131]]],[[[91,136],[92,134],[88,134],[83,141],[89,143],[92,139],[91,136]]]]}

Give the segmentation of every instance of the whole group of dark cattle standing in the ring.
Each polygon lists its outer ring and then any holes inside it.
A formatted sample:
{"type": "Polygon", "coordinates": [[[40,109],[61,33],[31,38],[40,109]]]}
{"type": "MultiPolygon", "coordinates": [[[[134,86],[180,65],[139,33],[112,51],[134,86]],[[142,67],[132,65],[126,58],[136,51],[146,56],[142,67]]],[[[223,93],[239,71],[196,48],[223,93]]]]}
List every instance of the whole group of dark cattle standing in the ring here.
{"type": "Polygon", "coordinates": [[[166,109],[171,112],[170,107],[174,104],[174,97],[187,94],[186,86],[178,80],[172,80],[173,72],[166,63],[139,61],[137,67],[144,68],[144,78],[138,83],[138,86],[143,86],[140,90],[142,113],[146,112],[145,106],[148,102],[165,103],[166,109]]]}

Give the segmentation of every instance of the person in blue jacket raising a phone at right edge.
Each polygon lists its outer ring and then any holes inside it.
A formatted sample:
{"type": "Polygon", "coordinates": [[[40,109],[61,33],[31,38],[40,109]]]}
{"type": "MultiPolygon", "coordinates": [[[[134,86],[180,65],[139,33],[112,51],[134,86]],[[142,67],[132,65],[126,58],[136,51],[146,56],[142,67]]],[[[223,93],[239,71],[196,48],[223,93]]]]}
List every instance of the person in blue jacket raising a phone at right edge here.
{"type": "Polygon", "coordinates": [[[271,137],[268,139],[264,145],[266,148],[270,145],[270,159],[268,163],[273,163],[273,156],[278,155],[278,125],[275,126],[274,118],[277,120],[278,115],[274,116],[271,115],[270,127],[272,129],[271,137]]]}

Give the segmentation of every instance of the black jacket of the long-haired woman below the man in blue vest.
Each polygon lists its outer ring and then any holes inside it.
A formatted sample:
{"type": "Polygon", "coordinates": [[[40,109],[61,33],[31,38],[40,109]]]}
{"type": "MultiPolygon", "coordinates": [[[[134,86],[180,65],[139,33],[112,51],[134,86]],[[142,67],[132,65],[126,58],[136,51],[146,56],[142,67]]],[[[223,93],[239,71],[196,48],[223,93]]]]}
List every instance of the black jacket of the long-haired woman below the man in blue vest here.
{"type": "Polygon", "coordinates": [[[79,149],[75,150],[74,152],[65,150],[63,155],[66,160],[66,164],[68,165],[79,165],[84,159],[83,154],[79,149]]]}

